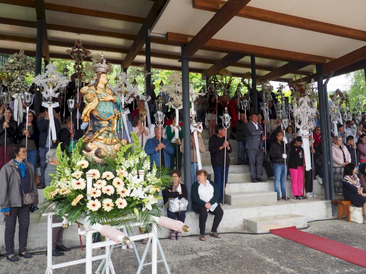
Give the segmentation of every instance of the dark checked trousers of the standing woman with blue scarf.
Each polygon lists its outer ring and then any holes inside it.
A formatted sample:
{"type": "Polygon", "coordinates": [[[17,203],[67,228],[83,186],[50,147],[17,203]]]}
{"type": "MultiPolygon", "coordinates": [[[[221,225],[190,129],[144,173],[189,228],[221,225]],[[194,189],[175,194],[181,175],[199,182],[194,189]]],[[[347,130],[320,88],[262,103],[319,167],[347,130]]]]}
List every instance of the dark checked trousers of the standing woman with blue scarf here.
{"type": "Polygon", "coordinates": [[[19,222],[19,253],[27,251],[29,212],[30,206],[24,205],[22,207],[11,207],[10,215],[5,215],[5,249],[8,256],[14,254],[14,235],[17,218],[19,222]]]}

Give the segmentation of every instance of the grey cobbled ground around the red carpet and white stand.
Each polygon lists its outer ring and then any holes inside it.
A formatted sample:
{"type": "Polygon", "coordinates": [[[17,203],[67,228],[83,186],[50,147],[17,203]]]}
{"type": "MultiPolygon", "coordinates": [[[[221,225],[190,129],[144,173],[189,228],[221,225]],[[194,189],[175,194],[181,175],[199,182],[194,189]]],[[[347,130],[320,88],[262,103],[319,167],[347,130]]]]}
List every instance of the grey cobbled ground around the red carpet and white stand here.
{"type": "MultiPolygon", "coordinates": [[[[327,220],[311,222],[309,225],[305,232],[366,250],[365,224],[327,220]]],[[[224,234],[221,239],[207,237],[205,242],[199,241],[198,236],[189,236],[178,242],[161,239],[161,244],[170,271],[174,274],[366,273],[365,268],[271,234],[224,234]]],[[[137,243],[137,248],[141,255],[141,242],[137,243]]],[[[94,253],[101,254],[102,251],[94,253]]],[[[84,252],[74,249],[54,261],[68,261],[83,256],[84,252]]],[[[117,274],[136,273],[138,264],[133,250],[115,250],[112,260],[117,274]]],[[[93,270],[97,267],[95,263],[93,270]]],[[[42,274],[45,268],[44,254],[34,255],[32,259],[20,258],[18,263],[11,263],[4,257],[0,260],[1,274],[42,274]]],[[[71,266],[54,270],[53,273],[81,274],[85,273],[85,266],[71,266]]],[[[151,268],[145,267],[142,273],[151,273],[151,268]]],[[[158,264],[158,273],[166,273],[163,264],[158,264]]]]}

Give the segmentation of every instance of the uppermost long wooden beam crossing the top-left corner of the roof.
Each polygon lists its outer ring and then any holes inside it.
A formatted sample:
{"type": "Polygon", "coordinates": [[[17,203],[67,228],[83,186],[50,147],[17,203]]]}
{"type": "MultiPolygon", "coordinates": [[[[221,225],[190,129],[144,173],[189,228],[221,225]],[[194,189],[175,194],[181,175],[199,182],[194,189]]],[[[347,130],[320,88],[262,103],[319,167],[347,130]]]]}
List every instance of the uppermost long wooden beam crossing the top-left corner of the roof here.
{"type": "MultiPolygon", "coordinates": [[[[23,7],[35,7],[35,1],[33,0],[0,0],[0,3],[9,4],[9,5],[17,5],[23,7]]],[[[119,13],[112,13],[112,12],[100,12],[99,10],[92,10],[92,9],[84,9],[79,7],[70,7],[64,6],[60,4],[53,4],[53,3],[45,3],[44,7],[46,10],[70,13],[70,14],[78,14],[78,15],[85,15],[85,16],[92,16],[92,17],[100,17],[106,19],[114,19],[120,20],[125,22],[133,22],[133,23],[140,23],[142,24],[145,20],[143,17],[119,14],[119,13]]]]}

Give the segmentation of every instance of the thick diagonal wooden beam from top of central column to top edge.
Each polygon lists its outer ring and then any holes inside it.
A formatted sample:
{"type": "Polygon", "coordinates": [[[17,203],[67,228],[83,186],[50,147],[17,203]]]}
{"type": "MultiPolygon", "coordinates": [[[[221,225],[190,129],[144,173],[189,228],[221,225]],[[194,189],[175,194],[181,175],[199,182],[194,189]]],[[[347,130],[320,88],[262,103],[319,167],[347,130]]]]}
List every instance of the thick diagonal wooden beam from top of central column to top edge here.
{"type": "Polygon", "coordinates": [[[186,45],[186,55],[193,56],[203,45],[221,30],[250,0],[228,0],[186,45]]]}

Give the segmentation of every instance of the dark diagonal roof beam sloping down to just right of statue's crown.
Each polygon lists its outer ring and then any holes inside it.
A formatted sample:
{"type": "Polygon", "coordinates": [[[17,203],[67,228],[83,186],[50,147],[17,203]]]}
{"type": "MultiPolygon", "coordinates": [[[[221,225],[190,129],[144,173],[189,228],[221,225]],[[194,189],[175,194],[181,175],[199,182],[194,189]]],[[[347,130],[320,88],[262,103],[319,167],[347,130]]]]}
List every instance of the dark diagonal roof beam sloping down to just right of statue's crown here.
{"type": "Polygon", "coordinates": [[[123,68],[128,68],[138,53],[141,51],[143,45],[145,44],[147,31],[155,24],[155,21],[159,18],[160,13],[163,11],[163,8],[168,1],[169,0],[156,0],[154,2],[154,5],[147,15],[146,20],[143,22],[136,39],[132,43],[126,57],[123,59],[123,68]]]}

